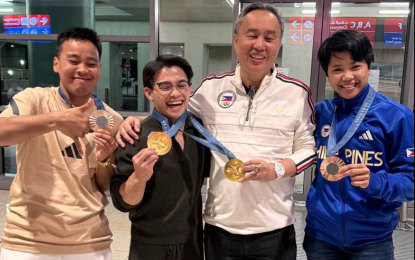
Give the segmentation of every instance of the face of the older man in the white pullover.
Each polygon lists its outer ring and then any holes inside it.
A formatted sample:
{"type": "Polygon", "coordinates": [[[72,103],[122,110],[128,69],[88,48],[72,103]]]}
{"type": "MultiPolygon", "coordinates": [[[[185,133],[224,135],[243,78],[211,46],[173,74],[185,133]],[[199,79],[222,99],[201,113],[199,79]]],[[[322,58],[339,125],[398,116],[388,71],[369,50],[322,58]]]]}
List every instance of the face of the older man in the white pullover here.
{"type": "Polygon", "coordinates": [[[256,10],[244,17],[233,40],[242,73],[265,76],[281,47],[281,26],[274,14],[256,10]]]}

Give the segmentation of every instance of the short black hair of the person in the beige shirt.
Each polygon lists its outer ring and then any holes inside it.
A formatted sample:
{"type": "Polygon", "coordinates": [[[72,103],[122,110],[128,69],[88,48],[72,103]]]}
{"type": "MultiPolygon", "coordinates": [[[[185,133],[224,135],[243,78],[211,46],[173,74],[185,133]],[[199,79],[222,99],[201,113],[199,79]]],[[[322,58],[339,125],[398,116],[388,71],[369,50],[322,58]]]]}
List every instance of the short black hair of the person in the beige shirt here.
{"type": "Polygon", "coordinates": [[[56,54],[58,58],[62,52],[62,45],[66,41],[69,41],[69,40],[91,42],[97,48],[98,53],[99,53],[99,59],[101,60],[102,43],[96,31],[89,29],[89,28],[82,28],[82,27],[72,27],[72,28],[68,28],[62,31],[58,35],[58,39],[57,39],[56,54]]]}

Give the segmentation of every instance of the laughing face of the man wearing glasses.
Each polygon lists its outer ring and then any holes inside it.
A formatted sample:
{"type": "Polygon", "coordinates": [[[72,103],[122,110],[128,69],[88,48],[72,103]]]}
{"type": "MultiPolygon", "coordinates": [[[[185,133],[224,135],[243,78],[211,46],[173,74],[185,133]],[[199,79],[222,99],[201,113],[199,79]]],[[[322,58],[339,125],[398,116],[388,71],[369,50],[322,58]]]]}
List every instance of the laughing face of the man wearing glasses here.
{"type": "Polygon", "coordinates": [[[147,98],[154,102],[157,111],[171,123],[175,123],[189,105],[192,86],[188,85],[187,82],[186,73],[180,67],[164,67],[156,74],[153,89],[145,88],[147,98]],[[169,82],[173,85],[170,90],[165,87],[169,82]],[[163,84],[158,86],[158,83],[163,84]]]}

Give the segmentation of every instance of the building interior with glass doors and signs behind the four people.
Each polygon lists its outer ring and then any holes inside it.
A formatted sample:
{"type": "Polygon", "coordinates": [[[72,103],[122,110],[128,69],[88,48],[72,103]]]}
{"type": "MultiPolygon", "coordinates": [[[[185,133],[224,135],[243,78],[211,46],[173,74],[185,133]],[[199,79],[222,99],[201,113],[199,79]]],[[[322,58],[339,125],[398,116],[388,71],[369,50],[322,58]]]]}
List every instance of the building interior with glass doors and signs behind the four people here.
{"type": "MultiPolygon", "coordinates": [[[[193,66],[197,87],[203,78],[234,70],[233,24],[253,0],[0,0],[0,112],[12,95],[28,87],[59,85],[52,70],[56,36],[65,28],[95,29],[103,41],[98,96],[124,117],[149,115],[142,70],[158,54],[175,54],[193,66]]],[[[286,20],[278,72],[310,86],[314,101],[333,96],[317,61],[317,50],[342,29],[364,32],[375,63],[371,85],[414,107],[414,1],[267,1],[286,20]]],[[[0,189],[17,172],[16,147],[0,147],[0,189]]],[[[294,199],[304,203],[313,170],[296,181],[294,199]]],[[[403,219],[413,222],[413,204],[403,219]]],[[[409,223],[410,223],[409,222],[409,223]]],[[[413,233],[412,233],[413,241],[413,233]]],[[[413,256],[413,247],[412,247],[413,256]]]]}

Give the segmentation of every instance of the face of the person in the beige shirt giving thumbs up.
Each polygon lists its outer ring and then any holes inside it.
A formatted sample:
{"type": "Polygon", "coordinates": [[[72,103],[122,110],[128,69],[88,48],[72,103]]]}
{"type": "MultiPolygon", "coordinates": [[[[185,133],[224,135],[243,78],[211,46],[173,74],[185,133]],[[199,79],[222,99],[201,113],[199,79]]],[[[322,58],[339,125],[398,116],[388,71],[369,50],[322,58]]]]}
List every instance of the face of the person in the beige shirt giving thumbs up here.
{"type": "Polygon", "coordinates": [[[55,57],[53,70],[70,97],[90,96],[101,73],[98,49],[90,41],[68,40],[55,57]]]}

